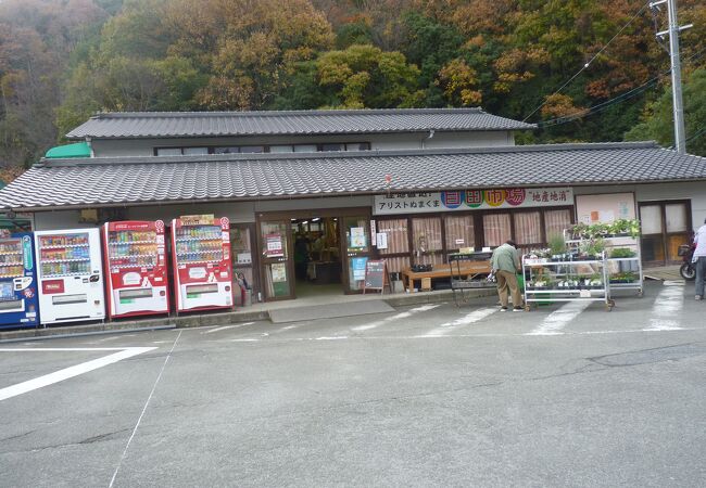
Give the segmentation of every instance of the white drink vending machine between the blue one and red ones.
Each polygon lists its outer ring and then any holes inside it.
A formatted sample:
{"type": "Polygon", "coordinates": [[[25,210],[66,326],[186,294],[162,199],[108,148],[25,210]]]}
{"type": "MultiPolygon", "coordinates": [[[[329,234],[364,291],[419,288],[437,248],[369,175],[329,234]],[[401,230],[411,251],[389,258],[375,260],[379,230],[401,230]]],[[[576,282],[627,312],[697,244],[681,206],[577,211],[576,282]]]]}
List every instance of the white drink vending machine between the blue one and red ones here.
{"type": "Polygon", "coordinates": [[[98,229],[35,232],[41,323],[105,318],[98,229]]]}

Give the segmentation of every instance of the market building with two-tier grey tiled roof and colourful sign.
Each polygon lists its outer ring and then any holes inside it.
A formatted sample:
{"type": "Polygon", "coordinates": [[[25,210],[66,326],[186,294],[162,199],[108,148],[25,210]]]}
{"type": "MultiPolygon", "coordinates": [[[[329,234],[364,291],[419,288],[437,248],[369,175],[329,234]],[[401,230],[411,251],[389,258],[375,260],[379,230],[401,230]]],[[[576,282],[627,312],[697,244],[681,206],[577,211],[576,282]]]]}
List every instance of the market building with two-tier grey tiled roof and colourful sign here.
{"type": "Polygon", "coordinates": [[[99,114],[0,207],[35,230],[228,217],[234,268],[264,300],[356,293],[357,258],[399,272],[510,237],[542,246],[579,220],[640,218],[645,265],[679,259],[706,217],[705,158],[515,145],[533,128],[479,108],[99,114]]]}

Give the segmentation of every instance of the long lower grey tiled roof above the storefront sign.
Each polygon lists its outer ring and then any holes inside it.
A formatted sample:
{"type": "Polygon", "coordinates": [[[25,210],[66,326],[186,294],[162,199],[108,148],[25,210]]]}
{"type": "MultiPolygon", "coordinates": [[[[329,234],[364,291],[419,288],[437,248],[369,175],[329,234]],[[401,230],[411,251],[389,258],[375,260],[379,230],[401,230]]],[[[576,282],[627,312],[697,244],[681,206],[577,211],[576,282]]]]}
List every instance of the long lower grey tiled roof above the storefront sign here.
{"type": "Polygon", "coordinates": [[[43,159],[0,191],[0,206],[259,200],[465,188],[706,180],[706,158],[655,143],[472,150],[43,159]]]}

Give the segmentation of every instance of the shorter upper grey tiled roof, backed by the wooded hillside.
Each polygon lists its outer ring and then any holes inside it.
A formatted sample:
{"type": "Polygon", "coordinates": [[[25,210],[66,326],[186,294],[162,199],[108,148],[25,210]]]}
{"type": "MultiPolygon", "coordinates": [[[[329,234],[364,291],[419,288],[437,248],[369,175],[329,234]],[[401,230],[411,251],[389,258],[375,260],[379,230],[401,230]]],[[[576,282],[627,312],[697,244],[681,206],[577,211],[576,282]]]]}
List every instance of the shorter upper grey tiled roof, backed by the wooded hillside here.
{"type": "Polygon", "coordinates": [[[91,117],[68,139],[181,138],[276,134],[533,129],[480,108],[289,112],[126,112],[91,117]]]}

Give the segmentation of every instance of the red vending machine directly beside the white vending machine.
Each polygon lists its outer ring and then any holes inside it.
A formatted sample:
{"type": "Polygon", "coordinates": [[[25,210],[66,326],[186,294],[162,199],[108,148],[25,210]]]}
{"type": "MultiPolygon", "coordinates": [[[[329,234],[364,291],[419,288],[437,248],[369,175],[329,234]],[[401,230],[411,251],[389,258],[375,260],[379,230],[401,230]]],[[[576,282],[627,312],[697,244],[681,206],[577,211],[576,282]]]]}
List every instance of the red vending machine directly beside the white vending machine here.
{"type": "Polygon", "coordinates": [[[111,318],[169,312],[164,222],[103,226],[103,257],[111,318]]]}

